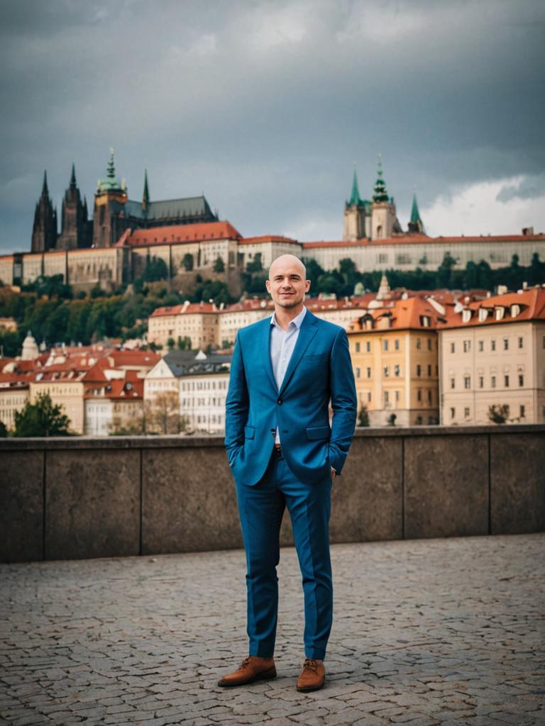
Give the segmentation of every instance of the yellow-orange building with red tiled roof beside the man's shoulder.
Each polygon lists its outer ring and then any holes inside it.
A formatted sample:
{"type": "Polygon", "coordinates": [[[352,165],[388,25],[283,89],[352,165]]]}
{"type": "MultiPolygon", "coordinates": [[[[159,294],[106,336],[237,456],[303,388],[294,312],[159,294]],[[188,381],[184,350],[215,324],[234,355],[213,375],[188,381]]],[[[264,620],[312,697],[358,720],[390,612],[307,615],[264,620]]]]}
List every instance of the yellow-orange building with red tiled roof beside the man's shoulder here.
{"type": "Polygon", "coordinates": [[[371,426],[439,423],[437,323],[445,308],[407,298],[371,303],[349,327],[358,409],[371,426]]]}

